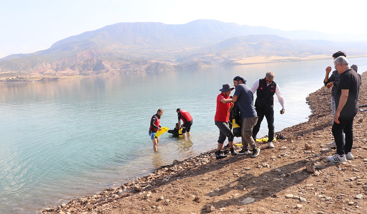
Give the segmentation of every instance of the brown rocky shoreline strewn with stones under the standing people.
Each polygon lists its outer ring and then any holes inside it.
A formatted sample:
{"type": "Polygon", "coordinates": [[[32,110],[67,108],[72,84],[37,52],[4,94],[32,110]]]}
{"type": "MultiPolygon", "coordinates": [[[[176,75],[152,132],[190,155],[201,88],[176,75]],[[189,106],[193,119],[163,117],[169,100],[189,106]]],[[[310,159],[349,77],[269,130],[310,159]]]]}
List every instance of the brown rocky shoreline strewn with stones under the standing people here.
{"type": "MultiPolygon", "coordinates": [[[[359,105],[367,104],[367,72],[362,80],[359,105]]],[[[366,214],[367,112],[354,120],[355,158],[336,164],[326,160],[335,153],[325,146],[333,141],[330,90],[322,87],[306,100],[312,109],[309,121],[282,130],[287,139],[276,141],[273,149],[259,142],[256,158],[216,160],[211,150],[40,213],[366,214]]]]}

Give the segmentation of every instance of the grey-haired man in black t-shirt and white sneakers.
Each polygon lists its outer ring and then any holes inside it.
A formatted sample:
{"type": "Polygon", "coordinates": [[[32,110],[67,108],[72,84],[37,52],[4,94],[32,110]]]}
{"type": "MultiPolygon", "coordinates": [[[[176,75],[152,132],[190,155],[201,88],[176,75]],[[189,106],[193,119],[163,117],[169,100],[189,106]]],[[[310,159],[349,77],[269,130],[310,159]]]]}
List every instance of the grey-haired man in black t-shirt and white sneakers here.
{"type": "Polygon", "coordinates": [[[328,156],[331,162],[346,162],[353,159],[353,119],[358,112],[358,95],[360,79],[357,73],[350,68],[348,60],[338,57],[334,60],[334,67],[340,74],[338,89],[335,94],[335,114],[331,131],[333,132],[337,153],[328,156]],[[345,144],[343,143],[343,132],[345,144]]]}

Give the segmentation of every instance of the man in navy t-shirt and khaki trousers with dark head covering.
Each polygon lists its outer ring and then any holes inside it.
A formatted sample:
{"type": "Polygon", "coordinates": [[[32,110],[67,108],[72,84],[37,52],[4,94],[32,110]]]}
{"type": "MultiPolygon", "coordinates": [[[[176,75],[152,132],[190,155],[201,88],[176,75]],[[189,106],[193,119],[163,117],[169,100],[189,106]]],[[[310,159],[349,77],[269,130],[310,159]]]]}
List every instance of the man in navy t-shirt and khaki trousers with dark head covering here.
{"type": "Polygon", "coordinates": [[[237,102],[242,118],[242,149],[238,153],[240,155],[250,154],[248,150],[248,145],[250,144],[252,157],[257,157],[260,153],[260,149],[256,147],[256,142],[252,138],[252,129],[257,123],[258,117],[254,107],[254,94],[252,94],[252,91],[245,83],[246,81],[240,76],[236,76],[233,79],[233,85],[236,87],[236,91],[233,95],[232,102],[237,102]]]}

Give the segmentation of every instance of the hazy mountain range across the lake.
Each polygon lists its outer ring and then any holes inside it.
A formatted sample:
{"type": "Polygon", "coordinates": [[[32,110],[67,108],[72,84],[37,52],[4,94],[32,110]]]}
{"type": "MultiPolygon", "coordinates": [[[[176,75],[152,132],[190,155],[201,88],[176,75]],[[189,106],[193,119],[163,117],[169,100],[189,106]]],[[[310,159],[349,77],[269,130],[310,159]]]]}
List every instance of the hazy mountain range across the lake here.
{"type": "Polygon", "coordinates": [[[100,75],[231,65],[261,55],[299,58],[338,50],[348,55],[367,54],[367,42],[310,40],[327,36],[205,19],[182,25],[116,23],[57,41],[47,50],[4,57],[0,73],[100,75]]]}

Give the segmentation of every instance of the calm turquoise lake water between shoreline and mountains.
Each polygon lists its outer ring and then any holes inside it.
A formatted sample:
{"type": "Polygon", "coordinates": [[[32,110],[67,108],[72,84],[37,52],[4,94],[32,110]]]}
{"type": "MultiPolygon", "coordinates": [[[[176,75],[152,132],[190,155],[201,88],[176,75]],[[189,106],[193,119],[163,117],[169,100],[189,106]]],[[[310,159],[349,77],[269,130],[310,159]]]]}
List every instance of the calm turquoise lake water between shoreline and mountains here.
{"type": "MultiPolygon", "coordinates": [[[[349,61],[362,73],[366,59],[349,61]]],[[[332,59],[0,84],[0,213],[35,213],[217,148],[215,100],[237,75],[251,87],[275,72],[286,101],[280,115],[275,96],[276,131],[304,122],[305,98],[323,86],[328,65],[332,59]],[[154,153],[148,128],[159,108],[161,126],[175,126],[177,108],[194,123],[188,140],[161,135],[154,153]]],[[[266,134],[264,120],[258,137],[266,134]]]]}

